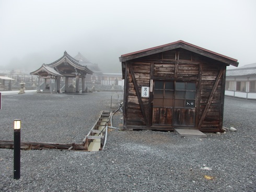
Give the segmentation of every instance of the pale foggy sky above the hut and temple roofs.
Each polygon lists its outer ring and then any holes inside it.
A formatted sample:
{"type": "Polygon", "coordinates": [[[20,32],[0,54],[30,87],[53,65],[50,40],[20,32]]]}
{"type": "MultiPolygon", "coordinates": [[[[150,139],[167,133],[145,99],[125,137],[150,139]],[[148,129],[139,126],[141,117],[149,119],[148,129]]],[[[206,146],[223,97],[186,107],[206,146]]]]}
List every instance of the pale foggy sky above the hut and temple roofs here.
{"type": "Polygon", "coordinates": [[[0,0],[0,70],[82,53],[104,71],[122,54],[183,40],[256,63],[255,0],[0,0]]]}

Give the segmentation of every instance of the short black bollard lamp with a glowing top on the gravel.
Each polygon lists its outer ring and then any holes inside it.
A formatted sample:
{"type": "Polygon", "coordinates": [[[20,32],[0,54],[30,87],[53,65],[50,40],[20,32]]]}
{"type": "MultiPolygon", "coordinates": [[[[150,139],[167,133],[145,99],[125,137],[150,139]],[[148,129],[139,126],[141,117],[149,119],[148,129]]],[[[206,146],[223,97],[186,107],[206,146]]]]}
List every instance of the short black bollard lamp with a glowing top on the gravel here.
{"type": "Polygon", "coordinates": [[[14,179],[20,178],[20,119],[14,119],[14,179]]]}

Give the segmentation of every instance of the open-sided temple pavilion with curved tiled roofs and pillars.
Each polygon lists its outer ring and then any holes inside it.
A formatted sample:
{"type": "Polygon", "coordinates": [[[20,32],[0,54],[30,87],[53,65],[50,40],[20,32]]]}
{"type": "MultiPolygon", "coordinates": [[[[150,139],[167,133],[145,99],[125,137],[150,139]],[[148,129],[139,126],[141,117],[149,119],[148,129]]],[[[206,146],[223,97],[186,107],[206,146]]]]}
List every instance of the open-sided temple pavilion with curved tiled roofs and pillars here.
{"type": "Polygon", "coordinates": [[[64,55],[51,64],[43,64],[39,69],[30,73],[38,76],[38,92],[60,93],[64,88],[65,93],[82,93],[86,92],[85,78],[86,75],[92,75],[93,71],[87,66],[81,65],[80,62],[64,52],[64,55]],[[61,81],[65,78],[63,87],[61,81]],[[44,79],[44,87],[40,88],[40,80],[44,79]],[[80,82],[80,79],[82,81],[80,82]],[[82,90],[80,85],[82,84],[82,90]],[[42,91],[41,91],[42,90],[42,91]]]}

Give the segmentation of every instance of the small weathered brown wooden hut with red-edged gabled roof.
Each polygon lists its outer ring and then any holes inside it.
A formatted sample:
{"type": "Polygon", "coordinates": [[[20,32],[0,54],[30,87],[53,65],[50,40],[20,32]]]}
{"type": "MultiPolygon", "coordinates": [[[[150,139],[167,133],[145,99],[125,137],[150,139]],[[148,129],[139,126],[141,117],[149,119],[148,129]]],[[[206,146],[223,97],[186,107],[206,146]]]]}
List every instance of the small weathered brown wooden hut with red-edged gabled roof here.
{"type": "Polygon", "coordinates": [[[236,59],[184,41],[119,59],[124,128],[223,130],[226,66],[236,59]]]}

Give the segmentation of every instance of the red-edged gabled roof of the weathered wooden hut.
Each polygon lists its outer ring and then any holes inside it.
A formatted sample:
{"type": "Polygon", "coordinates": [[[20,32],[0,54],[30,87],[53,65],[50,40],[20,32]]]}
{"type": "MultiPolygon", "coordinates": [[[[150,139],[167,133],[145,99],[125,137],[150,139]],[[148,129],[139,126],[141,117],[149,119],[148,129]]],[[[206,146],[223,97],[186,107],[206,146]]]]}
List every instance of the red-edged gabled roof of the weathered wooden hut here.
{"type": "Polygon", "coordinates": [[[141,50],[141,51],[137,51],[137,52],[133,52],[133,53],[124,54],[124,55],[121,55],[121,57],[119,57],[119,60],[120,60],[120,62],[125,62],[125,61],[129,61],[132,59],[136,59],[136,58],[140,58],[140,57],[144,57],[144,56],[148,56],[148,55],[153,55],[153,54],[161,53],[161,52],[165,52],[165,51],[170,51],[170,50],[174,50],[174,49],[178,49],[178,48],[182,48],[184,50],[188,50],[188,51],[203,55],[205,57],[215,59],[215,60],[225,63],[227,65],[233,65],[236,67],[238,66],[237,59],[227,57],[225,55],[221,55],[221,54],[215,53],[210,50],[206,50],[202,47],[199,47],[199,46],[196,46],[196,45],[193,45],[193,44],[181,41],[181,40],[173,42],[173,43],[165,44],[165,45],[152,47],[152,48],[149,48],[146,50],[141,50]]]}

